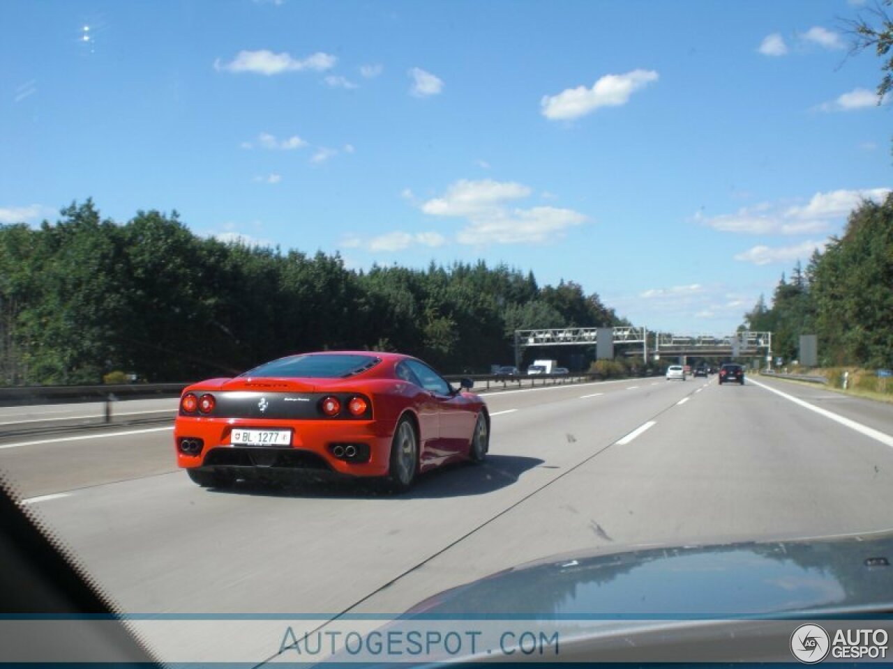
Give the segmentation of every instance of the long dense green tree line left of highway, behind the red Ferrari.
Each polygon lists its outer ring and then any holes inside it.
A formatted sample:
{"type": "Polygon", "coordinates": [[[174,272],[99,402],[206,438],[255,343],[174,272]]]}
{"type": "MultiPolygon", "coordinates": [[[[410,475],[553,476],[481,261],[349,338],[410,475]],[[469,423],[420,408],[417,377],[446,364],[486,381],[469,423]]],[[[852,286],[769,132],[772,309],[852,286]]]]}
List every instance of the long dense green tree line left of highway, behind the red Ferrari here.
{"type": "Polygon", "coordinates": [[[193,234],[176,211],[104,219],[73,202],[39,228],[0,226],[0,384],[232,376],[288,353],[402,351],[447,372],[513,361],[515,329],[625,324],[596,293],[455,263],[346,268],[193,234]]]}

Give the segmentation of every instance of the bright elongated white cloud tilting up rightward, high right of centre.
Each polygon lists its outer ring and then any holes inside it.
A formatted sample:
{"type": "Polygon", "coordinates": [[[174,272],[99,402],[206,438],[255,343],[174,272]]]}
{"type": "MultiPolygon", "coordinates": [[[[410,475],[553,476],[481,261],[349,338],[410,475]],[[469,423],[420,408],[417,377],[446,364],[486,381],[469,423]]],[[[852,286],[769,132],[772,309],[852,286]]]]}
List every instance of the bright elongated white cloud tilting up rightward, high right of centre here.
{"type": "Polygon", "coordinates": [[[617,107],[630,101],[630,95],[658,79],[655,70],[632,70],[608,74],[591,87],[567,88],[558,95],[543,95],[539,102],[543,116],[550,120],[570,120],[585,116],[599,107],[617,107]]]}

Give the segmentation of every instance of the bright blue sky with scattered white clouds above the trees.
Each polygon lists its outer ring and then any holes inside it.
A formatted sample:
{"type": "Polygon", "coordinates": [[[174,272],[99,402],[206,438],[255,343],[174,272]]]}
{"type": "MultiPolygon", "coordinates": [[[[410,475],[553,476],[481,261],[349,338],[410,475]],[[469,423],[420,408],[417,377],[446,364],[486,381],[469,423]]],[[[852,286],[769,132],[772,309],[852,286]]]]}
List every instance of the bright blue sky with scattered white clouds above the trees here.
{"type": "Polygon", "coordinates": [[[890,186],[855,0],[5,2],[0,222],[179,211],[721,334],[890,186]]]}

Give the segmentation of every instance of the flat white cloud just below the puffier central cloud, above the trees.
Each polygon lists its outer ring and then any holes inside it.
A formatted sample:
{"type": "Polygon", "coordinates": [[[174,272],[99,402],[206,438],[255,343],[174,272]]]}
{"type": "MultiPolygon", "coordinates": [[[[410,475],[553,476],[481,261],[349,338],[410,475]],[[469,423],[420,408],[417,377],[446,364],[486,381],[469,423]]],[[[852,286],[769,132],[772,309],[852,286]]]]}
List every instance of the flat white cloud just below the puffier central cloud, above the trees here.
{"type": "Polygon", "coordinates": [[[556,207],[533,207],[498,211],[472,217],[470,224],[459,231],[460,244],[540,244],[554,241],[586,217],[579,211],[556,207]]]}

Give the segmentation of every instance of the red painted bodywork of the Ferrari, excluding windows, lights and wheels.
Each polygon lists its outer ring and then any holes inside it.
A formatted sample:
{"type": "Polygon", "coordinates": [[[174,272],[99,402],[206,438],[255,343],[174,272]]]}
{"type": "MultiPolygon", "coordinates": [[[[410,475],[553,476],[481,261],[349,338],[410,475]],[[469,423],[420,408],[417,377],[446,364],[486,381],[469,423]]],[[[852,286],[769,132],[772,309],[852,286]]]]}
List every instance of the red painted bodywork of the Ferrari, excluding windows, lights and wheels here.
{"type": "MultiPolygon", "coordinates": [[[[426,391],[396,375],[396,366],[404,360],[416,360],[396,353],[370,351],[332,351],[308,355],[362,355],[380,359],[374,367],[348,378],[269,378],[238,376],[213,378],[189,385],[181,395],[200,398],[211,395],[215,408],[207,415],[199,411],[187,412],[182,404],[174,423],[174,449],[177,464],[183,468],[230,467],[229,458],[239,451],[251,458],[259,453],[256,447],[233,446],[230,441],[237,429],[286,429],[291,431],[290,446],[296,453],[313,457],[313,467],[321,471],[358,477],[388,475],[391,441],[400,418],[410,415],[419,437],[419,471],[423,472],[455,460],[469,457],[472,434],[478,414],[486,415],[486,404],[472,392],[440,395],[426,391]],[[368,415],[355,418],[342,415],[326,417],[263,417],[254,409],[264,403],[267,407],[288,407],[310,412],[317,396],[336,396],[342,400],[359,396],[371,404],[368,415]],[[237,401],[239,407],[250,410],[233,415],[221,410],[221,405],[237,401]],[[183,452],[183,440],[201,440],[197,452],[183,452]],[[333,455],[333,444],[364,444],[368,459],[347,461],[333,455]],[[229,458],[229,459],[228,459],[229,458]]],[[[421,361],[420,361],[421,362],[421,361]]],[[[263,410],[263,409],[259,409],[263,410]]],[[[267,409],[272,410],[272,409],[267,409]]],[[[284,410],[284,409],[283,409],[284,410]]],[[[238,413],[238,412],[237,412],[238,413]]],[[[245,464],[238,465],[245,467],[245,464]]],[[[304,467],[294,467],[301,469],[304,467]]]]}

